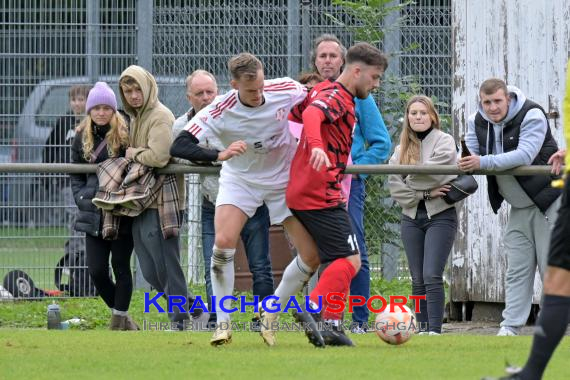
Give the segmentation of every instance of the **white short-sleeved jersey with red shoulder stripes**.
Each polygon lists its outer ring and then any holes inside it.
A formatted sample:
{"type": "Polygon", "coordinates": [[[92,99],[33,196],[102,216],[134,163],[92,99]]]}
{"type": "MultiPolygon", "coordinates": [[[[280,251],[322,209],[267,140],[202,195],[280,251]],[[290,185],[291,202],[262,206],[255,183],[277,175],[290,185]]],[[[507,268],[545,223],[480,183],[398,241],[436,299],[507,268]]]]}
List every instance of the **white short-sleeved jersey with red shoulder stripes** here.
{"type": "MultiPolygon", "coordinates": [[[[297,144],[289,133],[289,110],[306,95],[303,85],[289,78],[263,81],[263,102],[251,107],[233,90],[193,118],[185,130],[199,141],[217,137],[224,146],[245,142],[247,149],[222,166],[221,177],[263,189],[287,186],[297,144]]],[[[261,99],[261,95],[260,95],[261,99]]]]}

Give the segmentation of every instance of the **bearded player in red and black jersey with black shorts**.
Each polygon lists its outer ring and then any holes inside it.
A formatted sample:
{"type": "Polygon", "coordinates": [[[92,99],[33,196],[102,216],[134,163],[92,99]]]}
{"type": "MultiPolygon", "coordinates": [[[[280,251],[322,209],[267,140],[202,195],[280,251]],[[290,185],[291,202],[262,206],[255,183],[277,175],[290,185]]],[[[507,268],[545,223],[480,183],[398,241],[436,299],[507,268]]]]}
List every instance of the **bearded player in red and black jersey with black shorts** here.
{"type": "MultiPolygon", "coordinates": [[[[336,82],[325,81],[295,106],[290,119],[303,123],[299,146],[291,164],[287,206],[315,240],[321,264],[326,266],[311,292],[315,305],[322,297],[322,317],[332,324],[332,333],[307,331],[311,343],[352,346],[340,328],[340,313],[326,311],[329,293],[348,294],[350,281],[360,269],[356,237],[346,211],[340,183],[352,146],[356,123],[354,97],[366,98],[379,86],[387,67],[386,57],[367,43],[351,47],[346,67],[336,82]],[[308,165],[307,165],[308,164],[308,165]]],[[[344,302],[344,298],[339,297],[344,302]]],[[[297,313],[300,322],[312,321],[312,313],[297,313]]]]}

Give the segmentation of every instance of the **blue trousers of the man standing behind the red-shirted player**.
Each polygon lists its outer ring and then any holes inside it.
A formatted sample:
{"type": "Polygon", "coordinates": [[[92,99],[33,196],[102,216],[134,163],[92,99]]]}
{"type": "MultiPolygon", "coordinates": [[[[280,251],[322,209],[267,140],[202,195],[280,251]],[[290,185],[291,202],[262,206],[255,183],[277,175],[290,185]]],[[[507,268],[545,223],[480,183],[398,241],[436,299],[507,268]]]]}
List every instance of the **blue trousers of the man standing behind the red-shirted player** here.
{"type": "MultiPolygon", "coordinates": [[[[350,197],[348,201],[348,214],[352,222],[352,229],[356,234],[358,250],[360,251],[360,270],[350,283],[350,294],[370,298],[370,263],[368,262],[368,250],[364,240],[364,199],[366,198],[366,186],[364,180],[353,176],[350,184],[350,197]]],[[[356,306],[352,313],[352,321],[362,326],[368,322],[369,311],[366,306],[356,306]]]]}

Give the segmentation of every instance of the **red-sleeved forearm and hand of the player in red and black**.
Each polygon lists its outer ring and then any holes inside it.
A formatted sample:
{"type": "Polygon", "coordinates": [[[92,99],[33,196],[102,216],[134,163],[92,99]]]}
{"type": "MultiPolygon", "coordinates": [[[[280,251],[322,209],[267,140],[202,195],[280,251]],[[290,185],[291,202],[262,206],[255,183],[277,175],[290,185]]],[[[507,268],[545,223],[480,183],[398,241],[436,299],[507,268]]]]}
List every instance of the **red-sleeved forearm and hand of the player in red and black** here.
{"type": "Polygon", "coordinates": [[[306,143],[311,150],[309,164],[316,171],[321,170],[323,166],[327,168],[331,166],[321,136],[321,124],[325,119],[325,113],[317,107],[307,107],[303,111],[303,128],[305,130],[306,143]]]}

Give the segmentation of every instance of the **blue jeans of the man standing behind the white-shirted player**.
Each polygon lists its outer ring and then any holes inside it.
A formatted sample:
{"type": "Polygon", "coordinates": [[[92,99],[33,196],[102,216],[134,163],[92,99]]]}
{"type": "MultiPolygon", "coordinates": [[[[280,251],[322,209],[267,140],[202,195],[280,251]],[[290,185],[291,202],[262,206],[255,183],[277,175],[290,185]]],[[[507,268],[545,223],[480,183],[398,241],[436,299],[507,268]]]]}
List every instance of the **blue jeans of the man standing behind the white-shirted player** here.
{"type": "MultiPolygon", "coordinates": [[[[212,304],[212,281],[210,278],[210,261],[214,249],[215,230],[214,213],[216,207],[207,199],[202,200],[202,247],[206,280],[208,305],[212,304]]],[[[265,204],[257,209],[241,230],[241,239],[245,247],[249,271],[253,275],[253,295],[259,299],[273,294],[273,272],[269,256],[269,210],[265,204]]],[[[210,315],[210,320],[214,316],[210,315]]]]}

